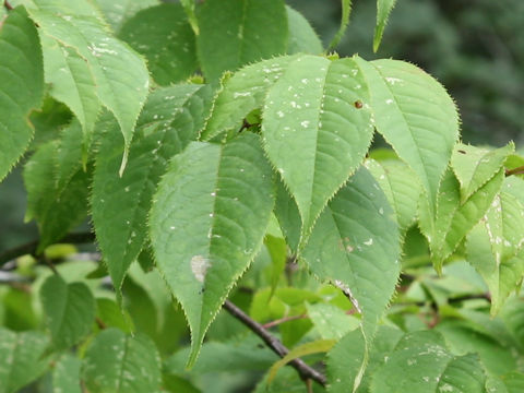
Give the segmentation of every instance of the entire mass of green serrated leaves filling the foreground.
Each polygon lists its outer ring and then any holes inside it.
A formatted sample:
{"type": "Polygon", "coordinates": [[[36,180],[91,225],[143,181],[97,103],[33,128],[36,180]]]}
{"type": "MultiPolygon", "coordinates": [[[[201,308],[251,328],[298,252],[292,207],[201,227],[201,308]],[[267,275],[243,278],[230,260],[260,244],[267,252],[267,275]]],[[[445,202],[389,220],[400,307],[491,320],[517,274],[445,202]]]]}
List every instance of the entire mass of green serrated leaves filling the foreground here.
{"type": "Polygon", "coordinates": [[[430,75],[324,55],[282,0],[9,8],[0,178],[32,152],[26,218],[52,272],[22,259],[34,282],[2,288],[0,392],[190,392],[235,369],[299,391],[279,368],[307,355],[333,392],[522,389],[524,309],[503,305],[524,275],[524,158],[460,143],[430,75]],[[103,263],[55,266],[86,217],[103,263]],[[289,354],[219,314],[227,297],[289,354]]]}

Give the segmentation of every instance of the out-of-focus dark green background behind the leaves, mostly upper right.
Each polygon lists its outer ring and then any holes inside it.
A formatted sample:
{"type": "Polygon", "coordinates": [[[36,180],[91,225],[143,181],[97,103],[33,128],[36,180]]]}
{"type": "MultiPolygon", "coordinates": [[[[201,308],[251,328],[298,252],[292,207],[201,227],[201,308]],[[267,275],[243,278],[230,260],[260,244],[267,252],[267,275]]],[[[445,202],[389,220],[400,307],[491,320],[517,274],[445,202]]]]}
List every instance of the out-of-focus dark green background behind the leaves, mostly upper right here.
{"type": "MultiPolygon", "coordinates": [[[[338,28],[340,0],[287,0],[329,43],[338,28]]],[[[382,45],[372,52],[376,2],[354,0],[341,56],[408,60],[436,76],[456,100],[462,138],[524,145],[524,1],[397,0],[382,45]]],[[[0,184],[0,251],[37,236],[23,224],[21,171],[0,184]]]]}

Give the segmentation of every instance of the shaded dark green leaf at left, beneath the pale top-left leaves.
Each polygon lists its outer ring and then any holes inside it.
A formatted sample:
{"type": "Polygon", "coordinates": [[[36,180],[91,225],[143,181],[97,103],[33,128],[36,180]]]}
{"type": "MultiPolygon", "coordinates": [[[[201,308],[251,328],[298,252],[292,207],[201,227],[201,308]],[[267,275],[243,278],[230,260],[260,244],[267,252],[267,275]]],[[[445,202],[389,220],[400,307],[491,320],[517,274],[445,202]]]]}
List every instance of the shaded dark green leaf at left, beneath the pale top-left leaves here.
{"type": "Polygon", "coordinates": [[[63,132],[76,135],[76,140],[64,136],[41,145],[24,167],[26,219],[35,218],[38,224],[38,253],[60,240],[87,213],[91,171],[81,169],[82,130],[73,124],[63,132]]]}

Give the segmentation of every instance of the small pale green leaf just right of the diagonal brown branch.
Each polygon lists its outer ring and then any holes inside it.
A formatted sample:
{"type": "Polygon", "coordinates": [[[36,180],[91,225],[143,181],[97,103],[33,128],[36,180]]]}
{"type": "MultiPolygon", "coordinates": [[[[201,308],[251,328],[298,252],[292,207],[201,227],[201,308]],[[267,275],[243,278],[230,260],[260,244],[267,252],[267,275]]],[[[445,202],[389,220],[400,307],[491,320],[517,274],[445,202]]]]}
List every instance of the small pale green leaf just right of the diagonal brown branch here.
{"type": "Polygon", "coordinates": [[[309,319],[324,340],[341,340],[349,331],[358,329],[360,323],[357,318],[330,303],[308,303],[306,307],[309,319]]]}

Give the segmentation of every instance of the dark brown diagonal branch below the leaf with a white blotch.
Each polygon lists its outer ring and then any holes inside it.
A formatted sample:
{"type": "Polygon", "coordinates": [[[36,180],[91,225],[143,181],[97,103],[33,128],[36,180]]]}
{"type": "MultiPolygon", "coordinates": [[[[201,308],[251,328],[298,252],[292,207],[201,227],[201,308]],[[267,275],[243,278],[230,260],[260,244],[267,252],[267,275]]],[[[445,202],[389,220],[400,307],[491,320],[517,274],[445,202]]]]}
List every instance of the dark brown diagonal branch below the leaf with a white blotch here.
{"type": "MultiPolygon", "coordinates": [[[[229,312],[234,318],[242,322],[246,326],[248,326],[254,334],[261,337],[265,344],[281,358],[286,356],[289,353],[282,342],[273,336],[270,332],[267,332],[264,326],[262,326],[259,322],[254,321],[253,319],[249,318],[242,310],[240,310],[237,306],[235,306],[229,300],[226,300],[224,303],[224,308],[229,312]]],[[[291,366],[297,372],[299,373],[300,378],[305,381],[311,379],[317,383],[325,386],[327,380],[325,376],[312,367],[308,366],[303,360],[297,358],[288,364],[291,366]]]]}

